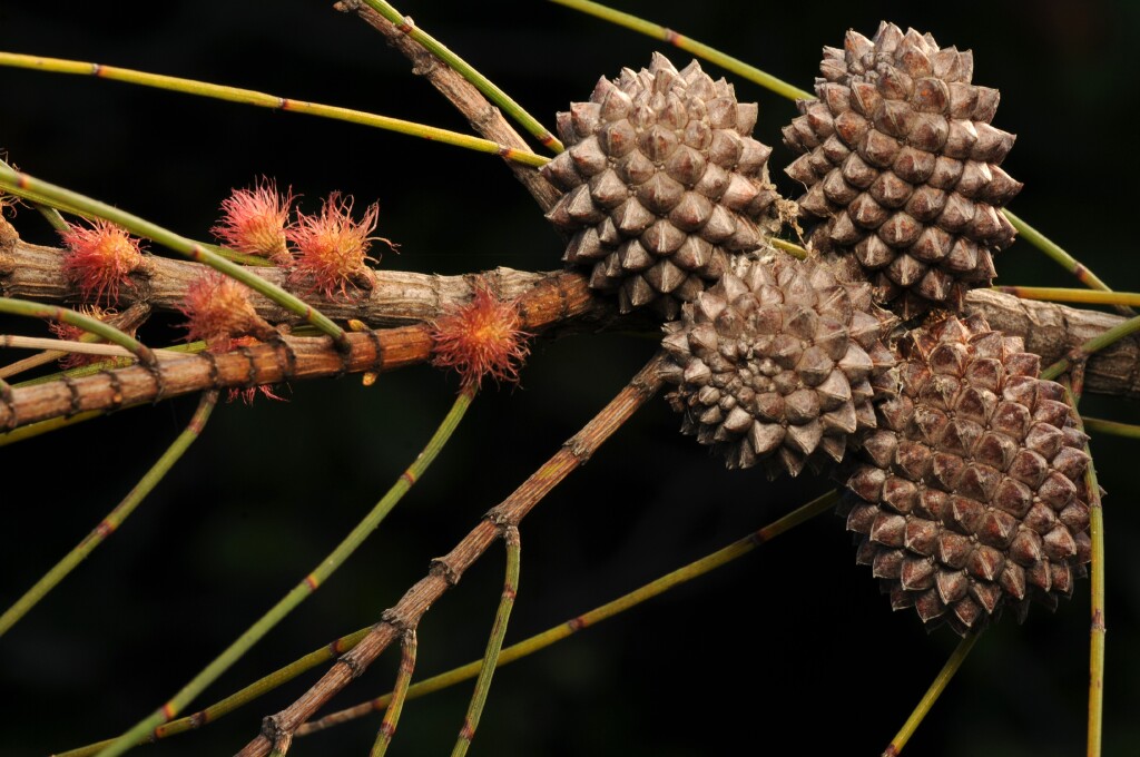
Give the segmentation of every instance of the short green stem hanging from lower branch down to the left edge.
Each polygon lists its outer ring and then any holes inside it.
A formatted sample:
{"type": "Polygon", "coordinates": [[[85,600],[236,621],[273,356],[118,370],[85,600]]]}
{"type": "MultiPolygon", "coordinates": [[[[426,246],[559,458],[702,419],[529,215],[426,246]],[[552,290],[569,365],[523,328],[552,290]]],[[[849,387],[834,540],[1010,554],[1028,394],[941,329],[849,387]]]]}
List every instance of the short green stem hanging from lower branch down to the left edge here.
{"type": "Polygon", "coordinates": [[[95,527],[87,537],[83,538],[74,550],[49,570],[35,585],[19,597],[15,604],[8,608],[0,616],[0,636],[3,636],[16,621],[23,618],[28,610],[35,607],[43,596],[56,587],[67,573],[70,573],[80,562],[87,559],[91,552],[99,546],[104,539],[115,532],[123,524],[135,508],[155,486],[162,481],[166,472],[178,462],[192,443],[202,434],[202,429],[210,418],[210,413],[218,402],[218,392],[210,391],[202,394],[198,409],[194,413],[186,429],[178,434],[173,443],[162,454],[162,457],[146,472],[146,475],[135,486],[133,489],[95,527]]]}

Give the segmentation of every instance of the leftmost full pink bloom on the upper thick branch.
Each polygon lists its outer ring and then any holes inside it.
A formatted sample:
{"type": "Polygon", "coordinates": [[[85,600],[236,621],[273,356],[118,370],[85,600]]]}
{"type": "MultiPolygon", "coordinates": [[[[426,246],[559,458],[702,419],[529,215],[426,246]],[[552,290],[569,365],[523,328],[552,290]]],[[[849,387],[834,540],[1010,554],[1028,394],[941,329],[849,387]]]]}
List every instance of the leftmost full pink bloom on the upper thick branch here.
{"type": "Polygon", "coordinates": [[[109,221],[97,218],[90,227],[68,223],[59,236],[67,247],[64,272],[84,299],[117,300],[119,287],[130,286],[131,272],[142,266],[139,241],[109,221]]]}

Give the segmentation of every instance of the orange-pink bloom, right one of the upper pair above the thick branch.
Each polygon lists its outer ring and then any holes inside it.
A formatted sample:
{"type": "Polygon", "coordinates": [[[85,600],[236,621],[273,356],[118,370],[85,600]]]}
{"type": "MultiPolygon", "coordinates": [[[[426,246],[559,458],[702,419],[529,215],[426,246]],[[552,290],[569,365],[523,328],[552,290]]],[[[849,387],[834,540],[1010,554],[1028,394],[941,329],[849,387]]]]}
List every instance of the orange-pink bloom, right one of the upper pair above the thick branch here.
{"type": "Polygon", "coordinates": [[[380,205],[373,203],[359,221],[352,219],[352,197],[332,193],[320,212],[306,215],[298,212],[296,222],[285,230],[295,247],[294,280],[308,280],[312,291],[332,298],[340,292],[348,296],[348,287],[360,288],[372,284],[372,272],[365,261],[377,260],[368,255],[373,242],[394,245],[383,237],[369,236],[376,228],[380,205]]]}

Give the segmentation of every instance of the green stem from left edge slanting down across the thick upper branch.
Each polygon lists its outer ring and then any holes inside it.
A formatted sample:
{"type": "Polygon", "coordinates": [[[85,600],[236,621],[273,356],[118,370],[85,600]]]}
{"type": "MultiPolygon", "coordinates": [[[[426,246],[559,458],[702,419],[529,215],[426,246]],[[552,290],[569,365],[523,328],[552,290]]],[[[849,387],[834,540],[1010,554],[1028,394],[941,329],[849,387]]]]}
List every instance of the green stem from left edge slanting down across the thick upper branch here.
{"type": "MultiPolygon", "coordinates": [[[[348,337],[344,334],[344,329],[329,320],[327,316],[318,312],[312,306],[296,295],[290,294],[276,284],[269,283],[245,267],[233,263],[218,253],[206,250],[197,242],[187,239],[162,228],[157,223],[152,223],[106,203],[71,192],[70,189],[64,189],[63,187],[57,187],[47,181],[41,181],[26,173],[16,173],[2,166],[0,166],[0,187],[14,195],[23,196],[25,190],[30,190],[49,200],[58,200],[64,205],[80,209],[87,215],[103,218],[122,226],[132,234],[154,239],[158,244],[170,247],[193,261],[205,263],[231,278],[236,278],[254,292],[264,295],[290,312],[296,314],[325,334],[328,334],[341,348],[348,349],[348,337]]],[[[95,332],[91,328],[87,328],[87,331],[95,332]]],[[[119,342],[115,343],[117,344],[119,342]]]]}

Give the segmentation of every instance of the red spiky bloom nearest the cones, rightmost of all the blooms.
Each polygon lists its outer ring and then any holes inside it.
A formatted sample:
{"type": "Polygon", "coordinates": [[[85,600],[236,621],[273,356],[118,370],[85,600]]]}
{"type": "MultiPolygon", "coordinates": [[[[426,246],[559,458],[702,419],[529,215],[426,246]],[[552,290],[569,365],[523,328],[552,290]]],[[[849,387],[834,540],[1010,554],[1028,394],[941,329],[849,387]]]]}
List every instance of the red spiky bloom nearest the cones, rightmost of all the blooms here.
{"type": "Polygon", "coordinates": [[[483,377],[518,383],[530,348],[514,302],[495,298],[484,283],[470,302],[453,308],[432,324],[432,365],[455,368],[464,389],[479,389],[483,377]]]}

